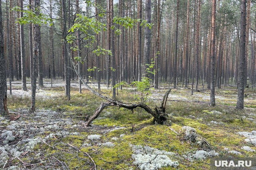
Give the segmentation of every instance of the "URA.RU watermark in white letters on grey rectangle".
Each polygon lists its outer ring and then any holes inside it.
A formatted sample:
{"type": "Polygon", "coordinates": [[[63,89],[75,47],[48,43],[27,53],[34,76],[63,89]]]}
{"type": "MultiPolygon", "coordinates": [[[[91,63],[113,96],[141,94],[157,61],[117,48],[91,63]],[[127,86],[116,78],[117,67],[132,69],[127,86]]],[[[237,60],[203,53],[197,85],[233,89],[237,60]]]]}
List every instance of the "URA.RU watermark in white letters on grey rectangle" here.
{"type": "Polygon", "coordinates": [[[211,170],[243,170],[254,169],[256,170],[256,158],[211,158],[211,170]]]}

